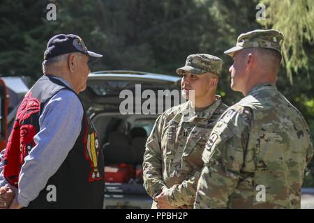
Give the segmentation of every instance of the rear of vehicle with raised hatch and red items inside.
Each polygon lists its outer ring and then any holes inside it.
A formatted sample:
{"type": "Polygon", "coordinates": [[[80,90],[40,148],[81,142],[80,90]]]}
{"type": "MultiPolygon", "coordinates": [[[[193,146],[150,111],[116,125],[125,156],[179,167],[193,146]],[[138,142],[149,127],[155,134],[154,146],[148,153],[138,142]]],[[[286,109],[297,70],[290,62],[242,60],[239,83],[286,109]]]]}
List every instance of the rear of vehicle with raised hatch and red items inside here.
{"type": "Polygon", "coordinates": [[[145,144],[156,118],[174,105],[172,90],[179,93],[180,80],[180,77],[170,75],[121,70],[89,75],[87,89],[80,93],[80,98],[96,127],[103,150],[103,208],[151,208],[152,199],[144,189],[142,179],[145,144]],[[146,90],[151,93],[149,102],[147,96],[143,96],[146,90]],[[163,93],[161,101],[157,97],[160,90],[163,93]],[[123,91],[127,96],[121,96],[123,91]],[[148,104],[149,107],[143,107],[148,104]]]}

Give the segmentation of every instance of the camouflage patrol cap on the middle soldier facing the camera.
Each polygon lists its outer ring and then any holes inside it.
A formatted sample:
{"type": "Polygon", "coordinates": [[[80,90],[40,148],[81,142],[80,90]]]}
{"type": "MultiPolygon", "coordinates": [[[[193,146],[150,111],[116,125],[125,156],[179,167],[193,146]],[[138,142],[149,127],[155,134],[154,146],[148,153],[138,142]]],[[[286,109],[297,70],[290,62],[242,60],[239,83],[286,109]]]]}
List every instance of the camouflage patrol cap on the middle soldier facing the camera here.
{"type": "Polygon", "coordinates": [[[204,72],[211,72],[220,76],[223,61],[217,56],[210,54],[191,54],[186,59],[186,66],[176,70],[178,75],[182,72],[191,72],[195,75],[203,74],[204,72]]]}

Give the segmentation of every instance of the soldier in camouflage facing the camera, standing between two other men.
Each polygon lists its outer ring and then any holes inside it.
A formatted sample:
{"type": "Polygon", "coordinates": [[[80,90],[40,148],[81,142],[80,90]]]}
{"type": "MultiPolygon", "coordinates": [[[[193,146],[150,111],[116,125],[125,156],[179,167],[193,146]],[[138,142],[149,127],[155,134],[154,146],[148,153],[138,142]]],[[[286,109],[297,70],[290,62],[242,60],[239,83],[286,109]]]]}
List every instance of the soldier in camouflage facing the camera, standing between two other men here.
{"type": "Polygon", "coordinates": [[[188,90],[195,90],[195,101],[167,109],[147,139],[143,178],[147,193],[157,202],[152,208],[193,208],[204,146],[227,109],[215,95],[222,63],[216,56],[192,54],[186,66],[177,69],[183,75],[184,97],[189,99],[188,90]],[[190,106],[195,113],[188,118],[190,106]]]}

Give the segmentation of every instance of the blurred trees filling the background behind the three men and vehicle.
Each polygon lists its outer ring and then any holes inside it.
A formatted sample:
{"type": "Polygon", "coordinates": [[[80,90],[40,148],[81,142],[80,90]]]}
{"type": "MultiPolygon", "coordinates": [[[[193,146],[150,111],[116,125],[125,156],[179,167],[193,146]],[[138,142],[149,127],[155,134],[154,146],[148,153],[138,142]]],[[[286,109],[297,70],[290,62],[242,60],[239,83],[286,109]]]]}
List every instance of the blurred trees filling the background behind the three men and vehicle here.
{"type": "MultiPolygon", "coordinates": [[[[105,55],[92,71],[174,75],[189,54],[219,56],[224,66],[218,93],[232,105],[242,95],[230,89],[232,59],[223,51],[253,29],[285,34],[277,86],[304,115],[313,135],[313,0],[0,0],[0,74],[26,77],[31,86],[42,75],[47,40],[74,33],[90,50],[105,55]],[[50,3],[56,10],[53,20],[50,3]]],[[[314,187],[313,173],[312,166],[305,187],[314,187]]]]}

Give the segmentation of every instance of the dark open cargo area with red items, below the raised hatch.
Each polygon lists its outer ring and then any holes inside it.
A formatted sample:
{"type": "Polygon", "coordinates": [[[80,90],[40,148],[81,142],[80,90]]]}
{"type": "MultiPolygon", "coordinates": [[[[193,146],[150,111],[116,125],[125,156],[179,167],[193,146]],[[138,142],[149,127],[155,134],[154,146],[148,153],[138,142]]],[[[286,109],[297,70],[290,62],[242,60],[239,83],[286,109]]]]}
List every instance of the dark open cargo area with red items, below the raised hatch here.
{"type": "Polygon", "coordinates": [[[104,208],[150,208],[143,187],[142,162],[156,115],[100,113],[93,122],[105,164],[104,208]]]}

